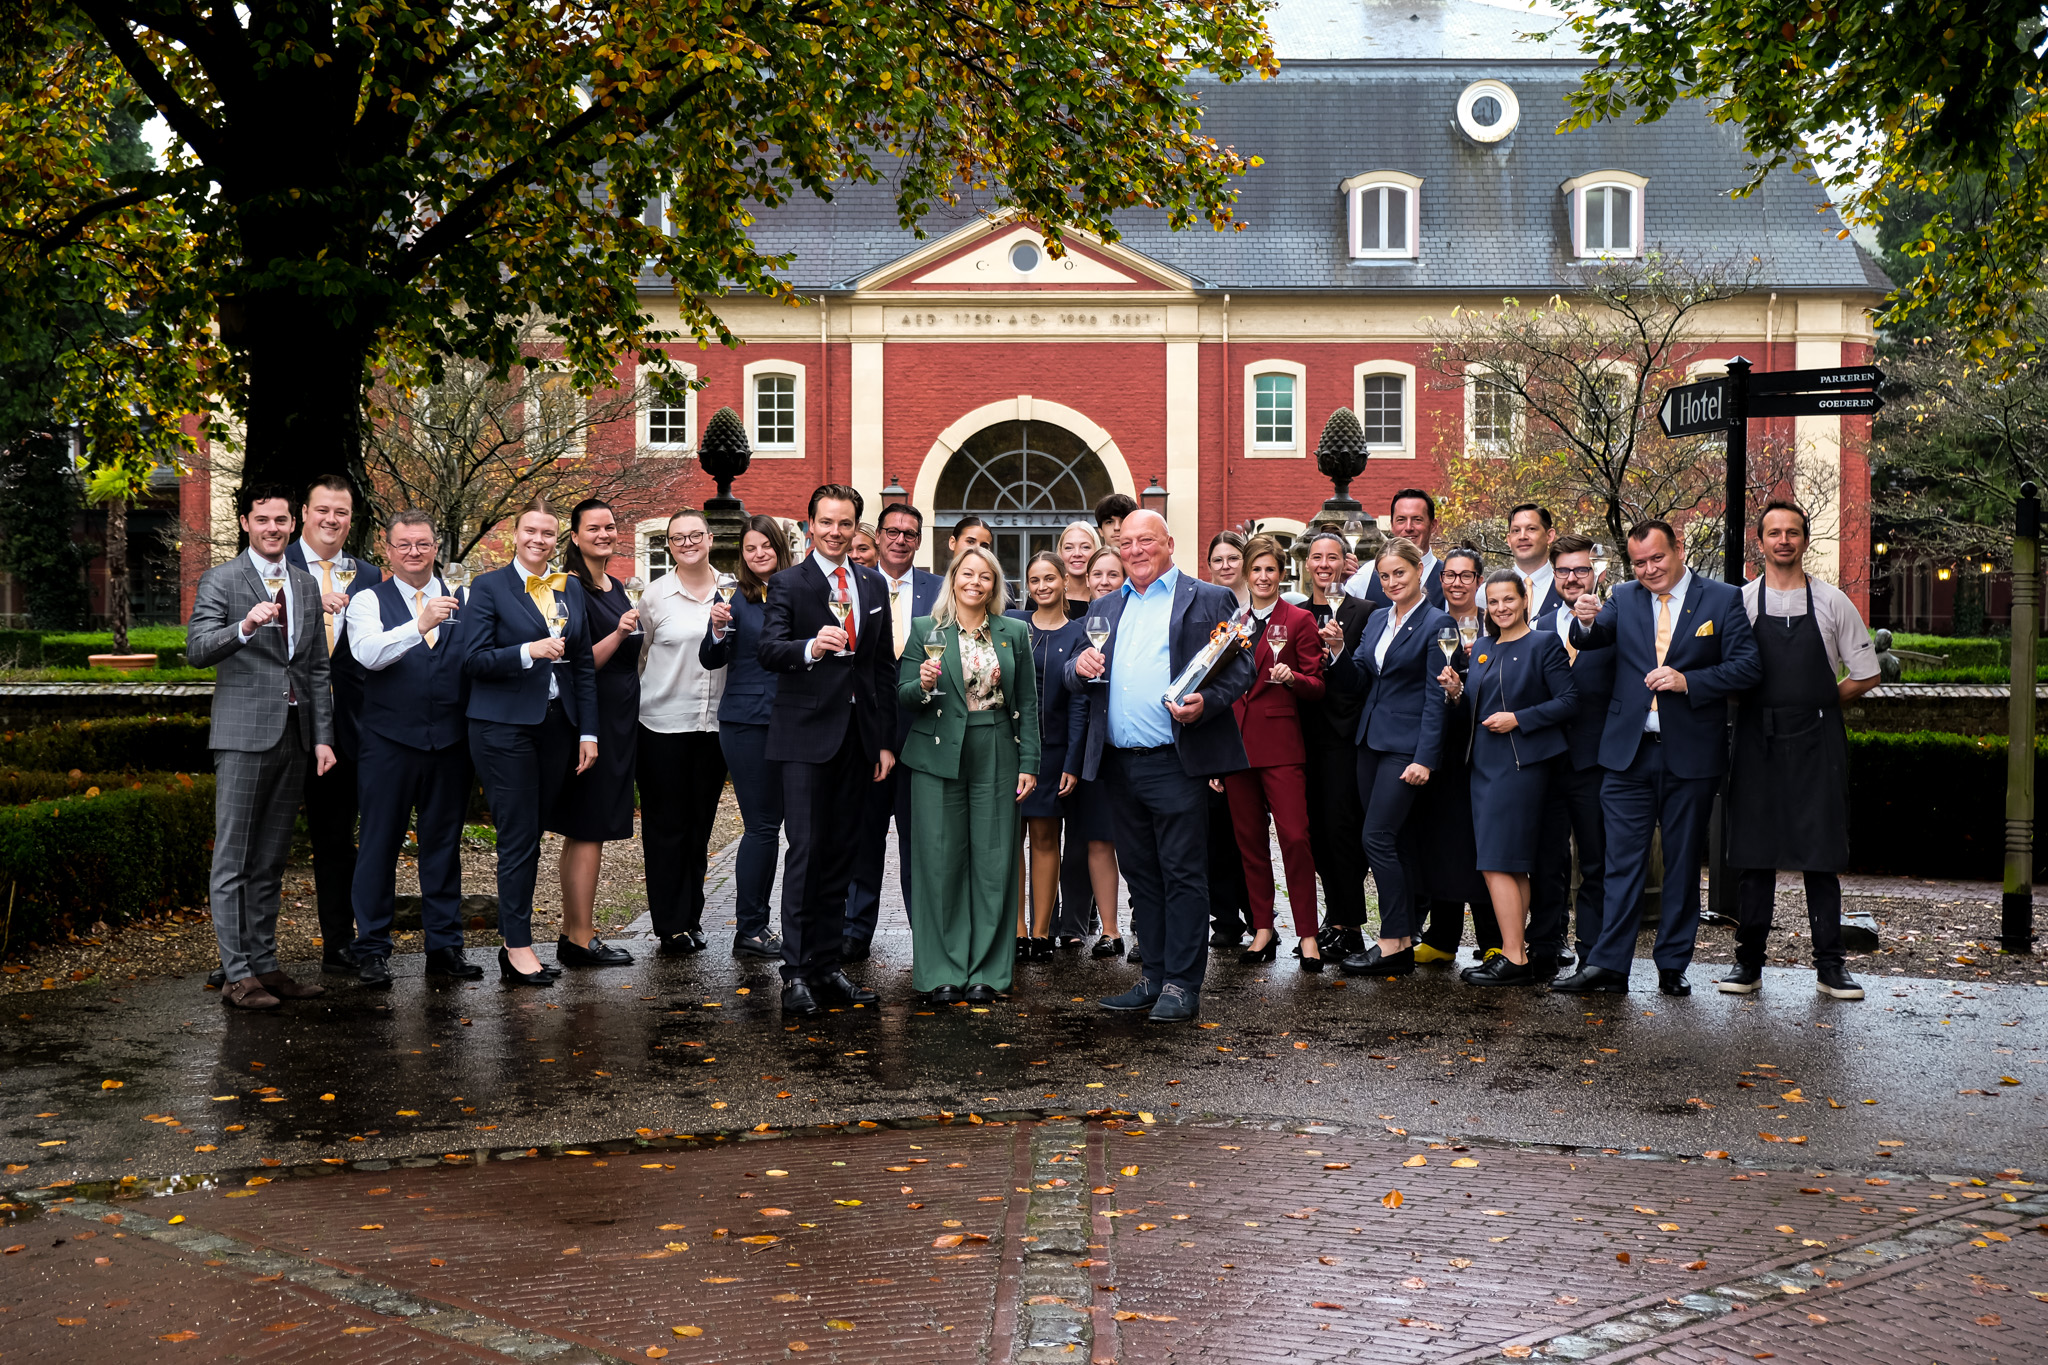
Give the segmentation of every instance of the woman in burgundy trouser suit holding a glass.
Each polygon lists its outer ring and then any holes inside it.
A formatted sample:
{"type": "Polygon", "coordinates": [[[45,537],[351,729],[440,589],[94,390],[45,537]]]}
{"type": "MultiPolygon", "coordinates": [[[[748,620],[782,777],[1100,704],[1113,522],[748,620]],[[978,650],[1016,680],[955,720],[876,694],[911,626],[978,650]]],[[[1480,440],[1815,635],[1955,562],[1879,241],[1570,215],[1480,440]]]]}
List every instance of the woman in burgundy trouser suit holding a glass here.
{"type": "Polygon", "coordinates": [[[1294,700],[1323,696],[1323,636],[1315,616],[1280,600],[1286,555],[1272,536],[1245,542],[1245,579],[1251,614],[1257,620],[1253,663],[1257,681],[1237,700],[1237,729],[1245,737],[1251,767],[1235,772],[1219,786],[1231,798],[1231,827],[1245,860],[1245,888],[1251,900],[1251,948],[1239,962],[1272,962],[1280,937],[1274,931],[1274,864],[1266,821],[1280,831],[1280,862],[1286,894],[1300,937],[1300,970],[1321,972],[1315,941],[1315,853],[1309,851],[1309,778],[1303,763],[1300,716],[1294,700]]]}

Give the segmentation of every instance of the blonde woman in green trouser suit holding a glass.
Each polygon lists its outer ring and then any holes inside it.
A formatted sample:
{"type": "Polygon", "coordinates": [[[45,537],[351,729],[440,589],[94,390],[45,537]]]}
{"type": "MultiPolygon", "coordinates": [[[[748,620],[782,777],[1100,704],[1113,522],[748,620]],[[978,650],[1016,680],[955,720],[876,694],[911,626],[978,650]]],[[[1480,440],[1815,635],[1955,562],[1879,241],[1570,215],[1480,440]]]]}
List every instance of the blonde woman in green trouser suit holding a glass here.
{"type": "Polygon", "coordinates": [[[987,1005],[1016,962],[1018,802],[1038,786],[1038,679],[1030,626],[1004,616],[1004,600],[1001,565],[969,546],[903,643],[911,984],[934,1005],[987,1005]]]}

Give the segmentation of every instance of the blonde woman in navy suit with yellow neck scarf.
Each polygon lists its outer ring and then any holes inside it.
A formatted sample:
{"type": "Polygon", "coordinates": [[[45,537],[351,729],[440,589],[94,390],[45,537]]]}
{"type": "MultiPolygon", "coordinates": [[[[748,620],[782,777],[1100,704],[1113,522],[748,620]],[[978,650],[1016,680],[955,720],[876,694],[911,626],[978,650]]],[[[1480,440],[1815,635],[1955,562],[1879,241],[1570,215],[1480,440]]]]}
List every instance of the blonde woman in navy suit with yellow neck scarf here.
{"type": "Polygon", "coordinates": [[[569,575],[549,573],[561,522],[545,497],[512,522],[512,563],[469,587],[461,620],[469,653],[469,757],[498,829],[498,974],[508,986],[553,986],[532,952],[532,882],[541,821],[569,778],[598,761],[598,681],[590,620],[569,575]]]}

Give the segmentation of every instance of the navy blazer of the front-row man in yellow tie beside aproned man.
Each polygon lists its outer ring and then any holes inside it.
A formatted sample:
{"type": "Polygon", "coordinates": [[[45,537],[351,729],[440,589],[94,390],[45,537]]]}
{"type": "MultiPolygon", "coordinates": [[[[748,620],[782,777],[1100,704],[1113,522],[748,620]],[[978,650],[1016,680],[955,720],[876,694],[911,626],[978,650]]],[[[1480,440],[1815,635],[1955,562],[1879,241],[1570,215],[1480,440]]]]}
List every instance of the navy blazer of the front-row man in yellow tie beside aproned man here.
{"type": "MultiPolygon", "coordinates": [[[[1571,643],[1581,651],[1614,647],[1614,698],[1599,739],[1599,765],[1628,772],[1651,714],[1651,690],[1642,679],[1657,667],[1657,598],[1642,583],[1622,583],[1591,626],[1571,626],[1571,643]]],[[[1665,665],[1686,675],[1683,692],[1657,696],[1665,763],[1673,778],[1718,778],[1729,772],[1726,702],[1763,677],[1743,589],[1694,573],[1686,606],[1671,624],[1665,665]]]]}

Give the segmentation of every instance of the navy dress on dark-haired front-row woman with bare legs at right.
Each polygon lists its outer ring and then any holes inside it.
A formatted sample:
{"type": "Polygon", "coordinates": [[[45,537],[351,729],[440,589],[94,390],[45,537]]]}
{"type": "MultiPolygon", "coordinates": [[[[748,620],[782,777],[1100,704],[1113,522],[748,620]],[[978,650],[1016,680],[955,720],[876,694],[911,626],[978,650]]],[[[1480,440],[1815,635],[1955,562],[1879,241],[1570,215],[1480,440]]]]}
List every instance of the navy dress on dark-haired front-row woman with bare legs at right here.
{"type": "Polygon", "coordinates": [[[1466,677],[1473,702],[1473,827],[1481,872],[1536,870],[1550,772],[1569,749],[1565,722],[1579,712],[1571,659],[1552,630],[1501,645],[1479,636],[1466,677]],[[1511,710],[1516,729],[1495,735],[1487,716],[1511,710]]]}

